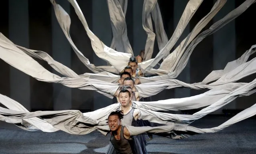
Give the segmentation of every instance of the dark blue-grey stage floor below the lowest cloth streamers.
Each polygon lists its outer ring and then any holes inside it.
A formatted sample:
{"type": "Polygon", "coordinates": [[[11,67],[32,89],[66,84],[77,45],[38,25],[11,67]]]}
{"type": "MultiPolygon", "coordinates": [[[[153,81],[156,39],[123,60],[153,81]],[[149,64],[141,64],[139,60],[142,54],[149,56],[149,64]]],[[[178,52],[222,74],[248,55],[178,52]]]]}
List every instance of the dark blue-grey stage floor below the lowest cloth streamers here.
{"type": "MultiPolygon", "coordinates": [[[[229,116],[206,116],[191,124],[211,128],[229,116]]],[[[255,154],[256,118],[238,122],[220,132],[194,135],[182,140],[153,136],[147,145],[151,154],[255,154]]],[[[0,121],[0,153],[19,154],[101,154],[105,153],[109,136],[95,131],[87,135],[71,135],[58,131],[26,131],[0,121]]]]}

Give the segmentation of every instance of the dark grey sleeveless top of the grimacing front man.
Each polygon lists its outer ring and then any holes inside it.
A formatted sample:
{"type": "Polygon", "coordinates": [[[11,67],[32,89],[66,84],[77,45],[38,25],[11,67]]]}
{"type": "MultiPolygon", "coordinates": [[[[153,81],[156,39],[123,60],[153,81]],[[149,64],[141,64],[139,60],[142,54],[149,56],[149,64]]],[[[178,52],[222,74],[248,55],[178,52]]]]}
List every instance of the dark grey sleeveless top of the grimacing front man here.
{"type": "Polygon", "coordinates": [[[124,126],[121,128],[120,140],[115,139],[115,136],[112,134],[110,142],[117,154],[133,154],[133,140],[132,138],[128,140],[123,136],[123,128],[124,126]]]}

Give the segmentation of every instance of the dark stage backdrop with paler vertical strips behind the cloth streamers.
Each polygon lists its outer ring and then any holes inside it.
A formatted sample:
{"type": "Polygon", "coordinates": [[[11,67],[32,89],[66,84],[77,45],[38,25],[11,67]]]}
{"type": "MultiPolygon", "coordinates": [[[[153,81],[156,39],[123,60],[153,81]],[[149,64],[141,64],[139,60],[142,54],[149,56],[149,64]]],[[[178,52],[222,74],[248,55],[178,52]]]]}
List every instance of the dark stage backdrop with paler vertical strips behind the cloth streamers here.
{"type": "MultiPolygon", "coordinates": [[[[95,55],[90,39],[67,0],[57,2],[71,17],[71,37],[78,49],[95,65],[107,63],[95,55]]],[[[112,39],[111,23],[106,0],[77,0],[89,24],[89,28],[103,43],[110,46],[112,39]]],[[[179,18],[188,0],[159,0],[163,24],[168,38],[171,38],[179,18]]],[[[186,27],[178,42],[191,32],[194,26],[211,10],[215,0],[202,3],[186,27]]],[[[213,23],[223,18],[228,12],[242,4],[244,0],[228,0],[224,8],[203,29],[207,30],[213,23]]],[[[47,52],[56,61],[63,63],[78,74],[91,73],[77,58],[60,29],[48,0],[2,0],[0,9],[0,32],[14,43],[35,50],[47,52]]],[[[145,47],[146,33],[142,27],[143,0],[129,0],[126,14],[128,38],[135,55],[145,47]]],[[[221,30],[205,38],[194,49],[189,62],[177,79],[186,83],[202,81],[211,71],[224,69],[225,65],[240,57],[251,45],[256,44],[256,29],[251,22],[256,4],[236,20],[221,30]]],[[[178,43],[175,45],[177,47],[178,43]]],[[[155,41],[153,57],[158,52],[155,41]]],[[[252,57],[255,57],[253,55],[252,57]]],[[[250,57],[250,59],[252,59],[250,57]]],[[[56,73],[45,63],[36,59],[43,67],[56,73]]],[[[59,74],[58,74],[59,75],[59,74]]],[[[112,103],[103,95],[88,90],[71,89],[55,83],[45,83],[16,70],[0,60],[0,93],[18,101],[29,111],[79,109],[83,112],[93,111],[112,103]]],[[[60,75],[61,76],[61,75],[60,75]]],[[[238,82],[250,82],[251,75],[238,82]]],[[[177,88],[165,90],[152,97],[160,99],[181,98],[201,94],[208,89],[194,90],[177,88]]],[[[246,109],[254,104],[255,95],[240,97],[226,105],[224,109],[246,109]]],[[[223,108],[222,108],[223,109],[223,108]]],[[[222,109],[215,113],[222,113],[222,109]]]]}

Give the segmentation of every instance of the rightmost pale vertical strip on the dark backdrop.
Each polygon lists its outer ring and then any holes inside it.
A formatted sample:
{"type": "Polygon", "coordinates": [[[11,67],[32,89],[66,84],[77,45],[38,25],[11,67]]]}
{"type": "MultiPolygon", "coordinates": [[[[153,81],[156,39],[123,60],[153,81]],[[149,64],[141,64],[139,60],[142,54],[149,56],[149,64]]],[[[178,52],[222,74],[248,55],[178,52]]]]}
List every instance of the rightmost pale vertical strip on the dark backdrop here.
{"type": "MultiPolygon", "coordinates": [[[[216,0],[214,0],[214,3],[216,0]]],[[[228,0],[223,8],[213,18],[213,22],[217,22],[229,12],[235,9],[235,0],[228,0]]],[[[235,20],[231,21],[220,30],[213,34],[213,70],[224,69],[228,62],[236,59],[236,29],[235,20]]],[[[222,109],[236,109],[236,100],[232,101],[224,108],[216,111],[221,114],[222,109]]]]}

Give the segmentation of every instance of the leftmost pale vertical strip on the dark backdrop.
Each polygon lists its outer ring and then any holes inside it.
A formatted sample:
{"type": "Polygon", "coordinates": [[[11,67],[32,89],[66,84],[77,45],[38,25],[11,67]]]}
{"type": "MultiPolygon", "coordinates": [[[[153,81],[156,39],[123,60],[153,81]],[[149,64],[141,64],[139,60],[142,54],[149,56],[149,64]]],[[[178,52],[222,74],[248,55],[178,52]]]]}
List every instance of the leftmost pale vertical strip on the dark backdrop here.
{"type": "MultiPolygon", "coordinates": [[[[28,0],[9,0],[9,39],[29,48],[28,0]]],[[[10,66],[10,98],[30,108],[30,76],[10,66]]]]}

